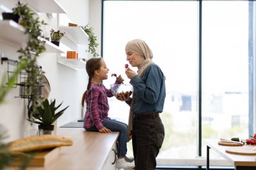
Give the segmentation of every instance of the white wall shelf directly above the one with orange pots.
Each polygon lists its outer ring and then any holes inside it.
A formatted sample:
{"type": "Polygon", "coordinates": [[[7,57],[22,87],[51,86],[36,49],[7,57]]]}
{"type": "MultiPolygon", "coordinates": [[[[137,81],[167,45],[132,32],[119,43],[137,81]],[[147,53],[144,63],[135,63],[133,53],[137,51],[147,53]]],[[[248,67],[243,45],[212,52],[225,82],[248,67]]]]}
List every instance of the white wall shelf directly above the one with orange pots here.
{"type": "Polygon", "coordinates": [[[74,42],[77,45],[89,44],[89,41],[88,41],[89,36],[79,26],[77,27],[60,26],[59,30],[61,30],[62,32],[65,32],[65,36],[67,36],[67,38],[69,38],[72,42],[74,42]]]}

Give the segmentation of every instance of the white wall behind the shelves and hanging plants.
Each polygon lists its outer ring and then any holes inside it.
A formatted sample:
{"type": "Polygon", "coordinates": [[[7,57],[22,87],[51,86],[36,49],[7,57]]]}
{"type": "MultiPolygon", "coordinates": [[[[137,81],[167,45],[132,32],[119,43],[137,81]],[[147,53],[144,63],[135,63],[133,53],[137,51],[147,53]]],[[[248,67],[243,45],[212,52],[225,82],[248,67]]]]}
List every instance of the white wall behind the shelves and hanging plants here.
{"type": "MultiPolygon", "coordinates": [[[[7,5],[10,9],[14,7],[17,3],[16,0],[0,0],[0,5],[7,5]]],[[[67,18],[70,22],[78,24],[79,26],[86,26],[90,20],[94,20],[90,17],[90,8],[92,4],[101,4],[100,0],[73,0],[65,1],[59,0],[59,3],[67,11],[67,18]],[[93,3],[92,3],[93,2],[93,3]]],[[[94,11],[96,12],[96,11],[94,11]]],[[[61,19],[61,15],[57,15],[55,18],[49,18],[45,13],[39,14],[40,19],[43,19],[48,25],[47,30],[57,29],[61,19]]],[[[94,21],[93,25],[98,26],[96,35],[100,35],[100,22],[98,19],[94,21]]],[[[92,24],[91,24],[92,26],[92,24]]],[[[98,39],[100,44],[100,36],[98,39]]],[[[86,50],[87,46],[78,46],[77,48],[82,48],[86,50]]],[[[18,48],[11,48],[4,44],[0,40],[0,54],[3,53],[8,58],[13,60],[18,59],[18,53],[16,52],[18,48]]],[[[57,120],[57,126],[66,124],[77,120],[81,117],[81,98],[84,90],[88,84],[88,76],[85,69],[70,69],[57,63],[57,58],[59,54],[54,53],[44,53],[38,58],[38,65],[42,66],[42,70],[45,71],[46,77],[49,79],[51,84],[51,93],[49,99],[56,99],[57,104],[63,101],[61,108],[69,105],[69,108],[64,112],[63,116],[57,120]]],[[[89,56],[83,56],[84,58],[89,58],[89,56]]],[[[7,65],[0,65],[0,81],[3,74],[7,71],[7,65]]],[[[15,140],[17,138],[22,138],[26,135],[26,132],[31,128],[37,128],[37,125],[30,124],[26,120],[26,99],[21,99],[20,97],[15,98],[19,94],[19,87],[12,89],[5,98],[5,103],[0,105],[0,124],[3,124],[7,128],[7,133],[9,138],[7,141],[15,140]]]]}

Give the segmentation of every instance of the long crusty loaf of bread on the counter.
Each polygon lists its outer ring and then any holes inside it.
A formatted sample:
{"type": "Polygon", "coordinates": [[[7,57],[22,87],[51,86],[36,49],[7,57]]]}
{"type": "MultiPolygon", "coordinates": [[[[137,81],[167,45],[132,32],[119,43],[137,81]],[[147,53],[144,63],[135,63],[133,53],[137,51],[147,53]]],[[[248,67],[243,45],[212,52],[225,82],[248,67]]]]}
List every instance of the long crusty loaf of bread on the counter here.
{"type": "Polygon", "coordinates": [[[73,141],[70,138],[45,134],[42,136],[30,136],[14,140],[8,144],[11,153],[23,153],[28,151],[55,148],[57,146],[71,146],[73,141]]]}

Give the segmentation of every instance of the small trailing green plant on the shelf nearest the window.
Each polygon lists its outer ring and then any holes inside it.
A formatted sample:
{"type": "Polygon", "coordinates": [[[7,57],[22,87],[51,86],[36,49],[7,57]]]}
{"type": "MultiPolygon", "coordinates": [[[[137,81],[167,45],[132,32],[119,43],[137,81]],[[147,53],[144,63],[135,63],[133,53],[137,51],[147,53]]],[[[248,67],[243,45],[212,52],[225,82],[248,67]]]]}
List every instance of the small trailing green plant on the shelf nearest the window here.
{"type": "Polygon", "coordinates": [[[94,29],[87,24],[86,26],[80,26],[86,34],[89,36],[89,48],[86,52],[90,52],[92,56],[98,56],[96,53],[96,48],[98,47],[97,37],[94,35],[94,29]]]}

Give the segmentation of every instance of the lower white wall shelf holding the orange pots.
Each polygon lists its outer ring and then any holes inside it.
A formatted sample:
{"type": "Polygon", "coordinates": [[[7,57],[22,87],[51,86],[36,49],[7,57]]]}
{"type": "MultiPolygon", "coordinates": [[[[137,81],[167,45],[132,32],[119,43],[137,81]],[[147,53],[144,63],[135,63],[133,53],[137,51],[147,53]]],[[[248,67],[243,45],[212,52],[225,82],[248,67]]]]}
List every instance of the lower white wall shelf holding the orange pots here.
{"type": "Polygon", "coordinates": [[[86,69],[86,62],[80,59],[68,59],[60,57],[58,63],[61,65],[65,65],[66,67],[70,67],[71,69],[86,69]]]}

